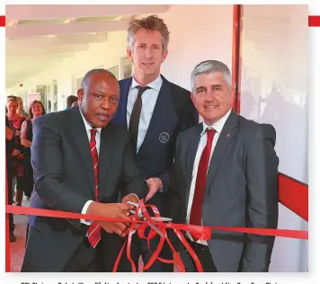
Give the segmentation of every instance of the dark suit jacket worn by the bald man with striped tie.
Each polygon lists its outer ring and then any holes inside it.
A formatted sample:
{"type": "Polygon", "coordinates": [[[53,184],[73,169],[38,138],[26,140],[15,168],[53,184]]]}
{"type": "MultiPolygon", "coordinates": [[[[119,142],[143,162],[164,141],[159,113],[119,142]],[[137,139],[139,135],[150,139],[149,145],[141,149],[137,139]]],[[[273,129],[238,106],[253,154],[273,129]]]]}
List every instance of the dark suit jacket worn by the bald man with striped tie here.
{"type": "MultiPolygon", "coordinates": [[[[81,213],[85,202],[94,200],[93,160],[78,108],[35,120],[31,155],[31,207],[81,213]]],[[[128,130],[109,123],[101,132],[99,201],[117,202],[120,181],[126,183],[124,195],[146,196],[147,183],[133,160],[128,130]]],[[[29,224],[39,234],[28,238],[24,271],[62,271],[88,229],[79,220],[64,218],[29,217],[29,224]]]]}

